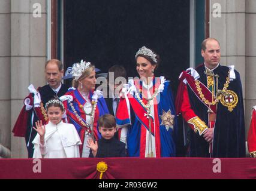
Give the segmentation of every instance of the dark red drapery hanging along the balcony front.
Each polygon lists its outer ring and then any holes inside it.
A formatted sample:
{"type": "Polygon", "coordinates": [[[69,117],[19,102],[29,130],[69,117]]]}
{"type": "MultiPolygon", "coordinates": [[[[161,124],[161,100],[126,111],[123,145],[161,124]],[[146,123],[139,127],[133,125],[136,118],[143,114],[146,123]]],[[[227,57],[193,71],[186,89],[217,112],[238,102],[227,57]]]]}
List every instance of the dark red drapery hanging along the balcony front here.
{"type": "Polygon", "coordinates": [[[107,164],[103,179],[256,178],[254,158],[41,159],[41,167],[37,160],[0,159],[0,178],[98,179],[98,162],[107,164]]]}

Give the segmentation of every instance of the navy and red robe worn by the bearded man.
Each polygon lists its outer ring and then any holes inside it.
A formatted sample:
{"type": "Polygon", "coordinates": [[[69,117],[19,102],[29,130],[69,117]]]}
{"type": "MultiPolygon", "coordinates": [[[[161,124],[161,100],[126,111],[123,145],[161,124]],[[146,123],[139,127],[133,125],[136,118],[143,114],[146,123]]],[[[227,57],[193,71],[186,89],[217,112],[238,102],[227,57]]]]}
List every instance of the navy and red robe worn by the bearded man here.
{"type": "MultiPolygon", "coordinates": [[[[200,64],[195,69],[200,76],[201,92],[205,98],[212,102],[212,94],[207,89],[207,75],[204,64],[200,64]]],[[[221,66],[213,69],[213,73],[218,75],[218,90],[222,90],[227,81],[229,67],[221,66]]],[[[234,70],[235,78],[230,80],[227,90],[233,91],[237,95],[237,104],[232,111],[228,110],[221,100],[215,106],[205,104],[198,95],[197,87],[195,86],[195,78],[191,75],[191,71],[187,70],[182,72],[180,76],[180,84],[176,97],[176,110],[177,113],[182,113],[182,117],[186,122],[192,119],[197,119],[201,125],[204,123],[210,127],[208,121],[209,108],[213,113],[216,113],[216,119],[213,124],[213,143],[212,150],[209,150],[209,143],[203,138],[203,132],[198,131],[200,127],[189,123],[192,131],[188,135],[188,156],[190,157],[215,157],[215,158],[237,158],[245,157],[245,116],[243,110],[243,96],[242,84],[240,81],[239,73],[234,70]],[[186,80],[186,84],[184,83],[186,80]],[[195,133],[195,132],[196,133],[195,133]],[[199,132],[199,133],[198,133],[199,132]],[[210,152],[211,151],[211,152],[210,152]]],[[[215,84],[216,84],[215,78],[215,84]]],[[[215,100],[216,97],[213,97],[215,100]]],[[[225,100],[233,101],[232,98],[225,98],[225,100]]],[[[203,127],[203,126],[202,126],[203,127]]],[[[204,129],[205,130],[205,129],[204,129]]]]}

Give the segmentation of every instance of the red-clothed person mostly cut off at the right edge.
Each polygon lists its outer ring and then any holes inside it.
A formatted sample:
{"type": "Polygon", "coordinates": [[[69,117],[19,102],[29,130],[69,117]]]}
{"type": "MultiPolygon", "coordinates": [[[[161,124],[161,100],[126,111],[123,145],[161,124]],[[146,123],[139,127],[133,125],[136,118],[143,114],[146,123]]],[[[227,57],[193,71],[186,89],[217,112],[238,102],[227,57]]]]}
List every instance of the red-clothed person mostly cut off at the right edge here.
{"type": "Polygon", "coordinates": [[[248,131],[248,150],[250,156],[256,158],[256,106],[253,108],[251,125],[248,131]]]}

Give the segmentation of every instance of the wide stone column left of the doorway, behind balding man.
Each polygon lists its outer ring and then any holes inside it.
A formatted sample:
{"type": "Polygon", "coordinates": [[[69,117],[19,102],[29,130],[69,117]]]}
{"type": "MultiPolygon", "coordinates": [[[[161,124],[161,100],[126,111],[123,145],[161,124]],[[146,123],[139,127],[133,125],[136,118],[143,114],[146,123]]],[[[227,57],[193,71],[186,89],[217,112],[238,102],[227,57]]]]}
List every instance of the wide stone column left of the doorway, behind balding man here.
{"type": "MultiPolygon", "coordinates": [[[[10,0],[7,0],[10,1],[10,0]]],[[[11,0],[11,125],[28,96],[29,84],[45,85],[47,0],[11,0]],[[37,10],[37,11],[36,11],[37,10]],[[41,17],[40,11],[41,10],[41,17]]],[[[25,139],[11,133],[11,155],[27,158],[25,139]]]]}

